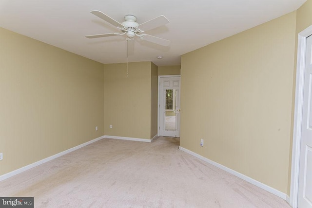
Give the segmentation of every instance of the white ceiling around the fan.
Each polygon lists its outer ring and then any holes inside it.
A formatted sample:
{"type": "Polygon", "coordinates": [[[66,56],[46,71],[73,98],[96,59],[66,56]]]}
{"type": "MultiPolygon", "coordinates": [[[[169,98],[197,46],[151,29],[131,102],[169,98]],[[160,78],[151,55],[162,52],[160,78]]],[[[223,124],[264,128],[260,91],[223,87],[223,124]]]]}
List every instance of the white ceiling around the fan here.
{"type": "Polygon", "coordinates": [[[125,36],[91,14],[100,10],[118,22],[138,23],[164,15],[169,24],[146,34],[171,40],[168,47],[136,38],[129,62],[179,65],[184,53],[206,46],[298,9],[306,0],[0,0],[0,27],[101,63],[127,62],[125,36]],[[163,59],[157,59],[162,55],[163,59]]]}

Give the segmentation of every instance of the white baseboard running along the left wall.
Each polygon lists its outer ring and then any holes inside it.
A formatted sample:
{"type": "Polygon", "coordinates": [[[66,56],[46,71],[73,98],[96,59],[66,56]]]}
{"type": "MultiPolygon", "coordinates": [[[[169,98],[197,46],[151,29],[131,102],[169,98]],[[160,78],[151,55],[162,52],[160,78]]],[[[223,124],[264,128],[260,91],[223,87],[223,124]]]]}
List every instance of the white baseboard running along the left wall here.
{"type": "Polygon", "coordinates": [[[91,144],[91,143],[96,142],[96,141],[98,141],[98,140],[100,140],[100,139],[103,139],[103,138],[104,138],[104,136],[99,137],[99,138],[97,138],[97,139],[93,139],[93,140],[91,140],[91,141],[87,141],[87,142],[85,142],[85,143],[83,143],[83,144],[79,144],[79,145],[76,146],[76,147],[70,148],[70,149],[65,150],[65,151],[63,151],[63,152],[60,152],[60,153],[58,153],[58,154],[56,154],[56,155],[49,156],[49,157],[47,157],[47,158],[41,159],[41,160],[39,160],[39,161],[37,161],[37,162],[34,162],[34,163],[30,164],[30,165],[27,165],[27,166],[24,166],[24,167],[22,167],[22,168],[20,168],[20,169],[17,169],[17,170],[15,170],[15,171],[12,171],[12,172],[5,173],[5,174],[3,174],[3,175],[0,175],[0,181],[2,181],[2,180],[4,180],[4,179],[7,179],[7,178],[9,178],[9,177],[12,177],[12,176],[14,176],[14,175],[17,175],[17,174],[19,174],[19,173],[22,173],[22,172],[24,172],[24,171],[27,171],[27,170],[29,170],[29,169],[31,169],[31,168],[36,167],[36,166],[39,166],[39,165],[41,165],[41,164],[43,164],[43,163],[45,163],[45,162],[48,162],[48,161],[50,161],[50,160],[52,160],[52,159],[57,158],[57,157],[66,155],[67,153],[70,153],[70,152],[73,152],[73,151],[75,151],[75,150],[78,150],[78,149],[81,148],[81,147],[87,146],[88,144],[91,144]]]}

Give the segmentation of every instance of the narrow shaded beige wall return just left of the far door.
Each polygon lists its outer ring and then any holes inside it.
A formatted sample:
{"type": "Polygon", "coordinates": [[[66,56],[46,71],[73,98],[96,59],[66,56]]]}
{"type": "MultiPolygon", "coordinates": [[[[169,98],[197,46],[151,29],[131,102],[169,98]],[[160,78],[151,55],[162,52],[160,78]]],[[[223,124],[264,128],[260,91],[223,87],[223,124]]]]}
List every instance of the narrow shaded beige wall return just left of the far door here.
{"type": "Polygon", "coordinates": [[[158,67],[151,62],[151,139],[157,135],[158,67]]]}

